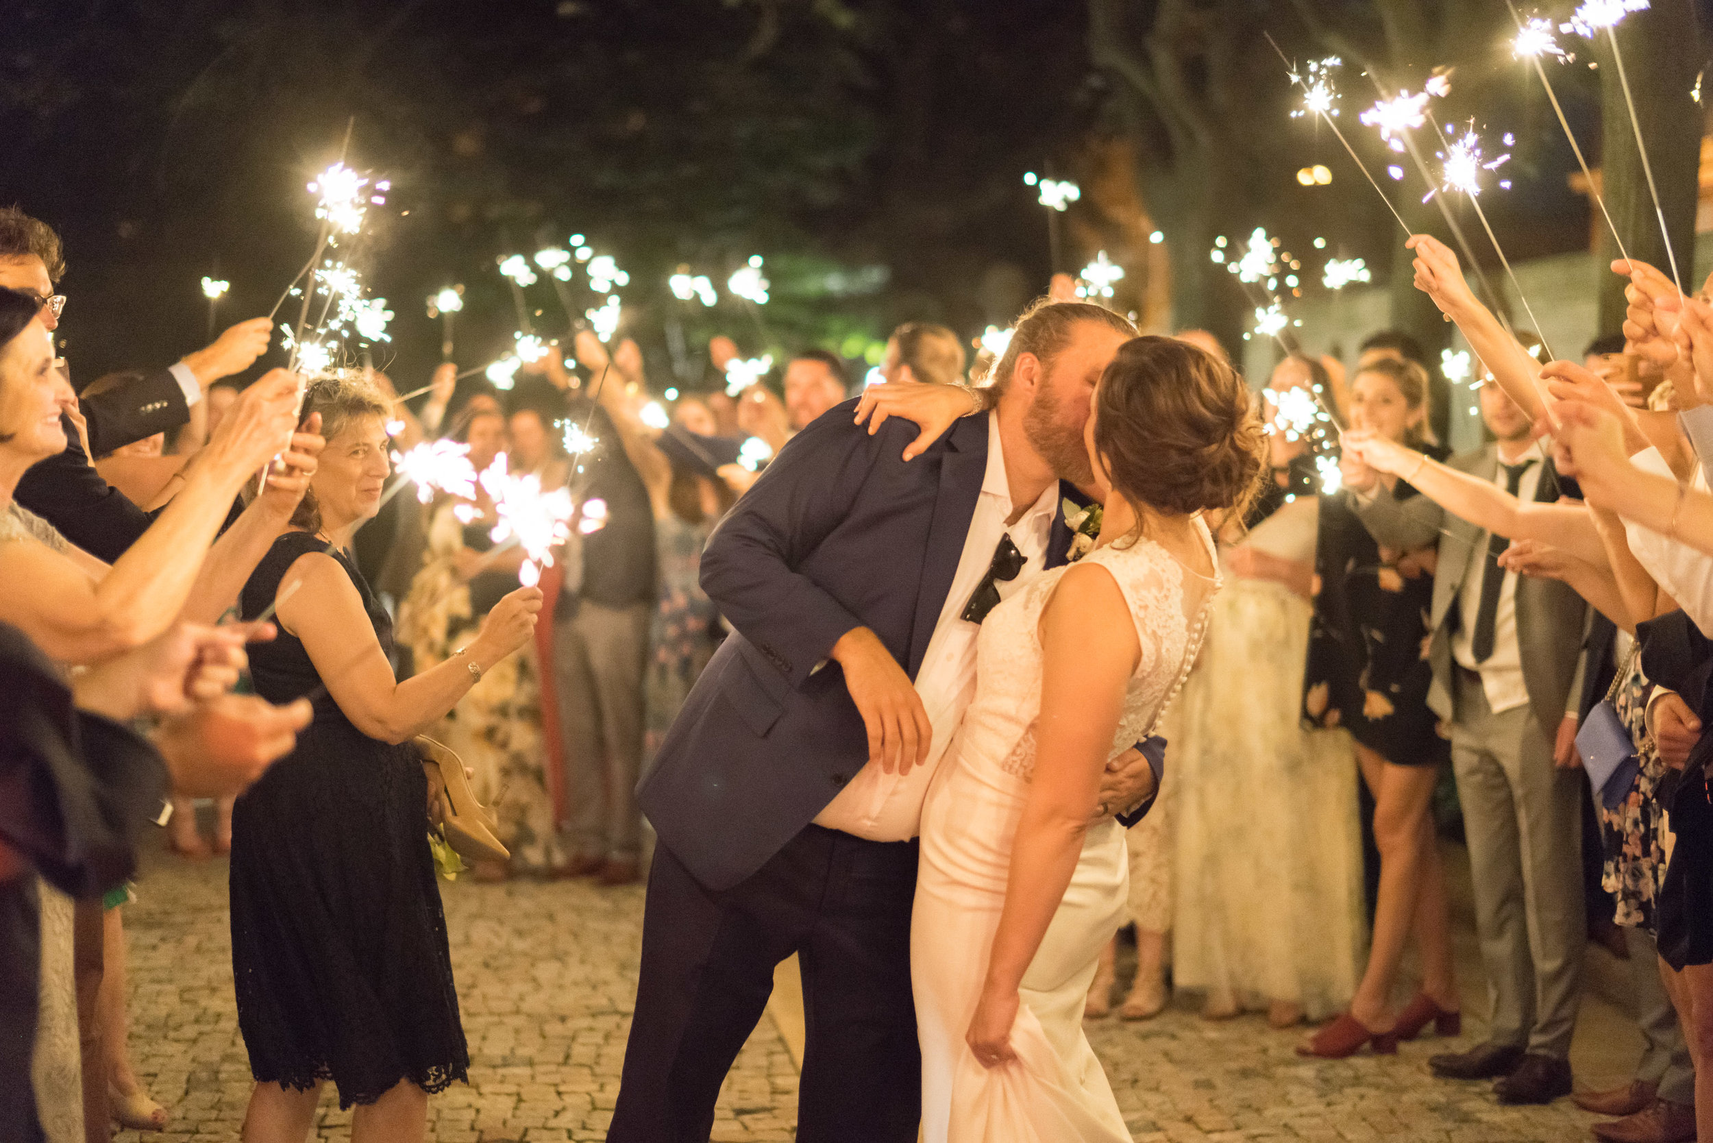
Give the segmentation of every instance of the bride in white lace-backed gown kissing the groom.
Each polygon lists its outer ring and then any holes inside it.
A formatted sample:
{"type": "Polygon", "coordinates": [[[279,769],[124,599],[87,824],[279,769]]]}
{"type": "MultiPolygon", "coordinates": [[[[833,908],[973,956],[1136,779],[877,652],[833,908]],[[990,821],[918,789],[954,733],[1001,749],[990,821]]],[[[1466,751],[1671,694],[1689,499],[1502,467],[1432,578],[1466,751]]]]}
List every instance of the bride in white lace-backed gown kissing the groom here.
{"type": "Polygon", "coordinates": [[[1262,437],[1227,365],[1136,338],[1100,377],[1084,444],[1105,502],[1095,547],[982,625],[976,696],[923,805],[911,982],[928,1143],[1131,1138],[1083,1035],[1129,877],[1124,829],[1096,824],[1100,776],[1184,684],[1220,586],[1203,512],[1242,511],[1262,437]]]}

